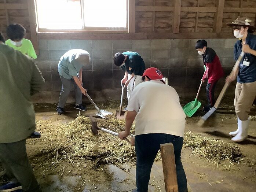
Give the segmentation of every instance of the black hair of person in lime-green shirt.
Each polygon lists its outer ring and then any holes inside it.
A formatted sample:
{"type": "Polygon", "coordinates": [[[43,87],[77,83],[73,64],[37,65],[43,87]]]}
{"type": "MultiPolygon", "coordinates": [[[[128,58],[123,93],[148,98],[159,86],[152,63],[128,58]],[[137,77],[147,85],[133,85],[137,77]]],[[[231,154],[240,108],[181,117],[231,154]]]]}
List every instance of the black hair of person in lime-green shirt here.
{"type": "Polygon", "coordinates": [[[7,27],[6,33],[11,40],[21,40],[26,34],[26,29],[21,24],[14,23],[7,27]]]}

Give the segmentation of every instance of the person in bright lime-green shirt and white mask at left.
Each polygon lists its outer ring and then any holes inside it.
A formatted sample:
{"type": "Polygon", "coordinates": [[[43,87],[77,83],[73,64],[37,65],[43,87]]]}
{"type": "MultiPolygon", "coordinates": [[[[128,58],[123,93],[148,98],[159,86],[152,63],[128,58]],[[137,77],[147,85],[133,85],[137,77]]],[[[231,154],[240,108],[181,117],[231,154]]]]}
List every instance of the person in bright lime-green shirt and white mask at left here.
{"type": "Polygon", "coordinates": [[[7,36],[10,38],[6,40],[6,45],[28,55],[33,59],[37,58],[33,44],[30,40],[25,39],[26,29],[20,24],[11,24],[7,27],[7,36]]]}

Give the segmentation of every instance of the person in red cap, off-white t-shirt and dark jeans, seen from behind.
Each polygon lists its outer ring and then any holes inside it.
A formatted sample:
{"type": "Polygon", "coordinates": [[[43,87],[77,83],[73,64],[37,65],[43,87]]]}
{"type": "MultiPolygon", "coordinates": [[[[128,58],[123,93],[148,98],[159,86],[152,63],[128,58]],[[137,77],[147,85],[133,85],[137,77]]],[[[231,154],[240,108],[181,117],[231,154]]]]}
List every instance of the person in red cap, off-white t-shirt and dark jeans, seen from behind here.
{"type": "Polygon", "coordinates": [[[187,192],[187,178],[180,159],[186,115],[177,92],[162,77],[161,71],[154,67],[143,73],[143,82],[134,88],[127,106],[125,131],[118,137],[127,137],[135,120],[138,192],[147,192],[151,167],[160,144],[164,143],[173,144],[179,192],[187,192]]]}

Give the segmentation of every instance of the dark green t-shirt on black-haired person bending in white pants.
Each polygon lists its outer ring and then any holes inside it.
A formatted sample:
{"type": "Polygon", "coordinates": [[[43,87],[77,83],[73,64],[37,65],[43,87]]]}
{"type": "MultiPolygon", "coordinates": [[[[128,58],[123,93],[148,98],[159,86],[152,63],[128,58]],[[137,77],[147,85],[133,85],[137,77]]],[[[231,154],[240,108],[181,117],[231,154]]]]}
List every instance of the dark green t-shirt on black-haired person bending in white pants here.
{"type": "Polygon", "coordinates": [[[127,71],[130,75],[134,73],[135,75],[142,76],[145,70],[145,63],[139,53],[126,51],[122,54],[127,55],[127,59],[125,60],[125,64],[121,66],[121,69],[127,71]]]}

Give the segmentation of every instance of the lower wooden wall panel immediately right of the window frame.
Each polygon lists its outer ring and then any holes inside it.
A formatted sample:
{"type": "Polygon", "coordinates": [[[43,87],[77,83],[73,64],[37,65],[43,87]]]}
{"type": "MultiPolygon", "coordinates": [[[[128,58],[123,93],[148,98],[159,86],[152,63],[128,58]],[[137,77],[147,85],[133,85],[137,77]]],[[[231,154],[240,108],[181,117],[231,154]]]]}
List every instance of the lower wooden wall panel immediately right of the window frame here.
{"type": "Polygon", "coordinates": [[[135,12],[135,33],[152,32],[152,11],[136,11],[135,12]]]}

